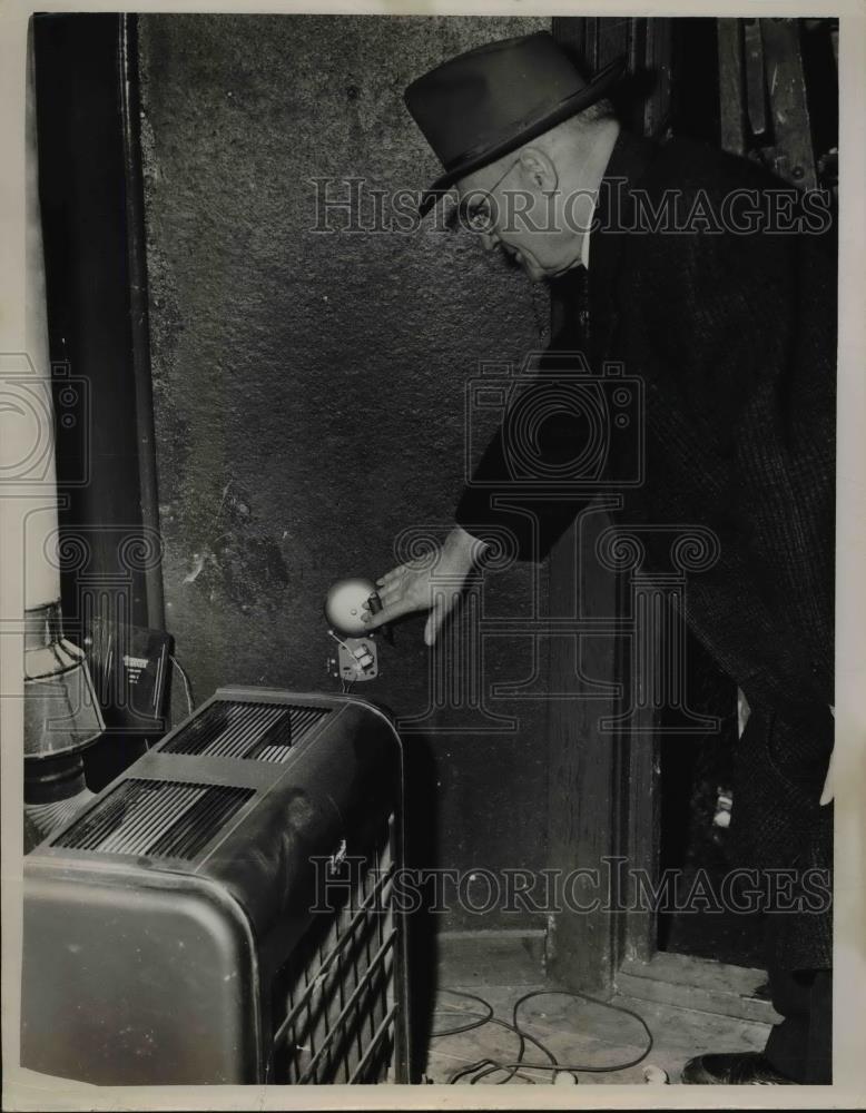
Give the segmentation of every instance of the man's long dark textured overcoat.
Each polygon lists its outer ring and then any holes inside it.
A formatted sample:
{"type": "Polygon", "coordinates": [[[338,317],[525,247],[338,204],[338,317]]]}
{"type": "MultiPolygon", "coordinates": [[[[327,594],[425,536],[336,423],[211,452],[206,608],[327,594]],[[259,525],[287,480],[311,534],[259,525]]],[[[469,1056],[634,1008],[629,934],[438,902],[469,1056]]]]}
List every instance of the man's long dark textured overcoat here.
{"type": "MultiPolygon", "coordinates": [[[[718,540],[712,567],[688,580],[686,612],[751,707],[735,752],[732,835],[738,865],[770,870],[829,869],[831,858],[831,807],[818,804],[834,702],[837,264],[828,215],[815,196],[746,159],[622,132],[597,206],[580,334],[594,374],[621,361],[643,384],[642,482],[623,489],[618,521],[699,525],[718,540]]],[[[575,335],[567,327],[552,347],[572,347],[575,335]]],[[[575,455],[572,415],[554,415],[544,435],[552,461],[575,455]]],[[[610,451],[637,450],[617,442],[610,451]]],[[[518,490],[506,455],[501,430],[456,519],[482,538],[505,525],[522,556],[541,559],[585,498],[551,491],[539,503],[537,492],[533,541],[527,519],[495,506],[495,495],[513,502],[518,490]]],[[[608,461],[622,475],[633,463],[608,461]]],[[[659,536],[661,545],[665,529],[659,536]]],[[[649,551],[666,563],[651,540],[649,551]]],[[[771,962],[831,964],[820,905],[772,917],[771,962]]]]}

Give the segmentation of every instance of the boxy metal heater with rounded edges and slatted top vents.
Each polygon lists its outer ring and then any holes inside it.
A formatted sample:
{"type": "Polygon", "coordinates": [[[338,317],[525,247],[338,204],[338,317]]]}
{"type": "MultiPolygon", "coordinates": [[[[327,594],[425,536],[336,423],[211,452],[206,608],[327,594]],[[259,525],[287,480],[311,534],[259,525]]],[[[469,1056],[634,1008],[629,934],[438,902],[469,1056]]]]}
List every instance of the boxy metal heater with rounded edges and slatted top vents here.
{"type": "Polygon", "coordinates": [[[382,710],[220,689],[24,859],[22,1065],[409,1081],[402,824],[382,710]]]}

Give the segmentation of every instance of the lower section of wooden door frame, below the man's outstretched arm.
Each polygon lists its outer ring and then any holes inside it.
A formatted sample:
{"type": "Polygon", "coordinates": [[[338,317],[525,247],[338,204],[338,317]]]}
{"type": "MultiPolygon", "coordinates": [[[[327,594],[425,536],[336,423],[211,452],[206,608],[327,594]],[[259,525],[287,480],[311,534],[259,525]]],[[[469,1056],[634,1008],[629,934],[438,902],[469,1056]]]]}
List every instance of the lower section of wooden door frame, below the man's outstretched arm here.
{"type": "MultiPolygon", "coordinates": [[[[549,642],[557,695],[548,717],[548,866],[560,886],[548,920],[547,973],[572,988],[601,991],[612,987],[624,961],[649,962],[656,952],[651,909],[613,907],[618,871],[640,869],[655,878],[659,865],[659,715],[631,699],[638,678],[631,676],[627,619],[621,621],[630,605],[628,578],[594,560],[610,524],[603,504],[589,508],[550,560],[552,617],[573,620],[574,632],[549,642]],[[593,693],[606,687],[613,690],[593,693]],[[604,728],[606,719],[630,708],[627,730],[604,728]],[[575,870],[597,873],[597,885],[588,880],[599,907],[592,908],[590,893],[575,895],[575,870]]],[[[628,904],[630,893],[619,897],[628,904]]]]}

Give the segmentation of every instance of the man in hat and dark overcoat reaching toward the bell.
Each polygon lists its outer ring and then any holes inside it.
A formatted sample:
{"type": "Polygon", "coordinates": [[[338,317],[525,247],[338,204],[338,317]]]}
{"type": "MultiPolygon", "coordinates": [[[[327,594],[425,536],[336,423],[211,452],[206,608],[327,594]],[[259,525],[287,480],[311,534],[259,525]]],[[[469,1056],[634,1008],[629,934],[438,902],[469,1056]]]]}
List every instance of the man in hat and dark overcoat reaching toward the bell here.
{"type": "MultiPolygon", "coordinates": [[[[682,1078],[829,1083],[830,916],[826,900],[809,900],[809,885],[828,878],[831,857],[831,809],[821,805],[834,700],[831,221],[746,160],[628,136],[604,100],[617,76],[609,67],[584,83],[540,33],[421,77],[406,104],[445,167],[422,211],[456,186],[461,217],[533,282],[585,268],[588,336],[574,327],[575,304],[552,347],[582,336],[577,346],[596,372],[618,361],[644,384],[643,481],[623,490],[619,520],[660,526],[662,539],[666,526],[702,525],[718,541],[716,562],[689,581],[686,607],[751,708],[735,751],[739,864],[790,871],[794,887],[768,917],[783,1022],[762,1054],[707,1054],[682,1078]]],[[[539,382],[543,390],[543,372],[539,382]]],[[[465,580],[503,526],[521,556],[540,560],[584,504],[551,491],[531,504],[538,531],[501,509],[498,494],[512,508],[520,498],[511,435],[506,420],[434,571],[403,565],[378,581],[383,609],[371,628],[435,598],[431,644],[456,602],[432,592],[431,575],[465,580]]],[[[568,413],[553,413],[540,451],[568,460],[581,435],[568,413]]],[[[648,549],[661,559],[651,540],[648,549]]]]}

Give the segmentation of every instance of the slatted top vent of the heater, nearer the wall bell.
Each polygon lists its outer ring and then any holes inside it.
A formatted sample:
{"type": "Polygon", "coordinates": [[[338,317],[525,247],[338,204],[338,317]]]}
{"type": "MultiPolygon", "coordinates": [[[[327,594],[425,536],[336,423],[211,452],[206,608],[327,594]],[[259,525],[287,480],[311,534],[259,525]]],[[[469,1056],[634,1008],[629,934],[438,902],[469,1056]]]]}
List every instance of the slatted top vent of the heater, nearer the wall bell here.
{"type": "Polygon", "coordinates": [[[163,747],[164,754],[208,754],[285,761],[329,708],[215,700],[163,747]]]}

